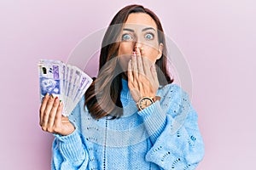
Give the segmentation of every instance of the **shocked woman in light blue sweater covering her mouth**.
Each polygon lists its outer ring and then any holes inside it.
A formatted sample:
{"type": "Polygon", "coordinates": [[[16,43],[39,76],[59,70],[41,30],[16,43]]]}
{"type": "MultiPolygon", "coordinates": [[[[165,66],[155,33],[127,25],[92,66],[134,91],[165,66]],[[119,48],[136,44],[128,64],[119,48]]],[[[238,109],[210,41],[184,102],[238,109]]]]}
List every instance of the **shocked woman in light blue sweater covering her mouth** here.
{"type": "Polygon", "coordinates": [[[140,5],[122,8],[103,38],[98,77],[71,115],[44,97],[52,169],[195,169],[204,156],[197,114],[172,82],[158,17],[140,5]]]}

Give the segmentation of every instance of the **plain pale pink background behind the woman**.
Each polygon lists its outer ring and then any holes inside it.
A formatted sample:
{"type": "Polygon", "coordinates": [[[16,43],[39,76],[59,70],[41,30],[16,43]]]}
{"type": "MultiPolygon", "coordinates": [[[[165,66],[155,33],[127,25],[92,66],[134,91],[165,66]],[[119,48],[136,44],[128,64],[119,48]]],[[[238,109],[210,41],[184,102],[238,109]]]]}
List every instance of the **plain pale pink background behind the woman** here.
{"type": "Polygon", "coordinates": [[[189,62],[206,144],[198,169],[255,167],[255,1],[9,0],[0,3],[1,169],[50,168],[53,138],[38,126],[38,60],[67,60],[132,2],[160,16],[189,62]]]}

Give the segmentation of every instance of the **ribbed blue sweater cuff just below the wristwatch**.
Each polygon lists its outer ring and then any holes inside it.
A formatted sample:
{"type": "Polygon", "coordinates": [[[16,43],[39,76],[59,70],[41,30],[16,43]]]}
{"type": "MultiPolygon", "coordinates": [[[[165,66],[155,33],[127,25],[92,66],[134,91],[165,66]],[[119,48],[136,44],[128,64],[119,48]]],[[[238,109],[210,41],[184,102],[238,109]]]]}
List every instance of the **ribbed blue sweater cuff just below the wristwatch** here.
{"type": "Polygon", "coordinates": [[[143,111],[138,111],[138,115],[143,118],[148,136],[154,143],[166,127],[166,113],[162,110],[160,102],[156,101],[143,111]]]}

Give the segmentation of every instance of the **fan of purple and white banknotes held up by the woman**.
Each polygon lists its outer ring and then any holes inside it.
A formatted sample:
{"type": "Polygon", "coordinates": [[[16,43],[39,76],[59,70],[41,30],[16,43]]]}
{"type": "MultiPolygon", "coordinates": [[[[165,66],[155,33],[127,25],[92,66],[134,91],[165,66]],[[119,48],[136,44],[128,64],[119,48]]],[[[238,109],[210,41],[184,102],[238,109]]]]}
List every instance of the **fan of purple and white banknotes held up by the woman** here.
{"type": "Polygon", "coordinates": [[[92,82],[84,71],[59,60],[41,59],[38,71],[41,101],[47,93],[58,97],[64,104],[64,116],[69,116],[92,82]]]}

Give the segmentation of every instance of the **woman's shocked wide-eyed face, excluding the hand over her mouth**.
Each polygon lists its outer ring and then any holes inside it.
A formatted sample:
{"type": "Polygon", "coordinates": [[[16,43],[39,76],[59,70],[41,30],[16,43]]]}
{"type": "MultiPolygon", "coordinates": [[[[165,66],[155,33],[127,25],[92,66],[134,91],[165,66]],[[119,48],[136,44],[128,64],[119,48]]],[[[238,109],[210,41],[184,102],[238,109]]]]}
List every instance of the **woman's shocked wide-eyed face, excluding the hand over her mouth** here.
{"type": "Polygon", "coordinates": [[[128,62],[136,46],[143,48],[142,57],[146,57],[152,63],[160,59],[163,44],[158,41],[157,26],[150,15],[129,14],[119,38],[119,63],[123,71],[127,71],[128,62]]]}

